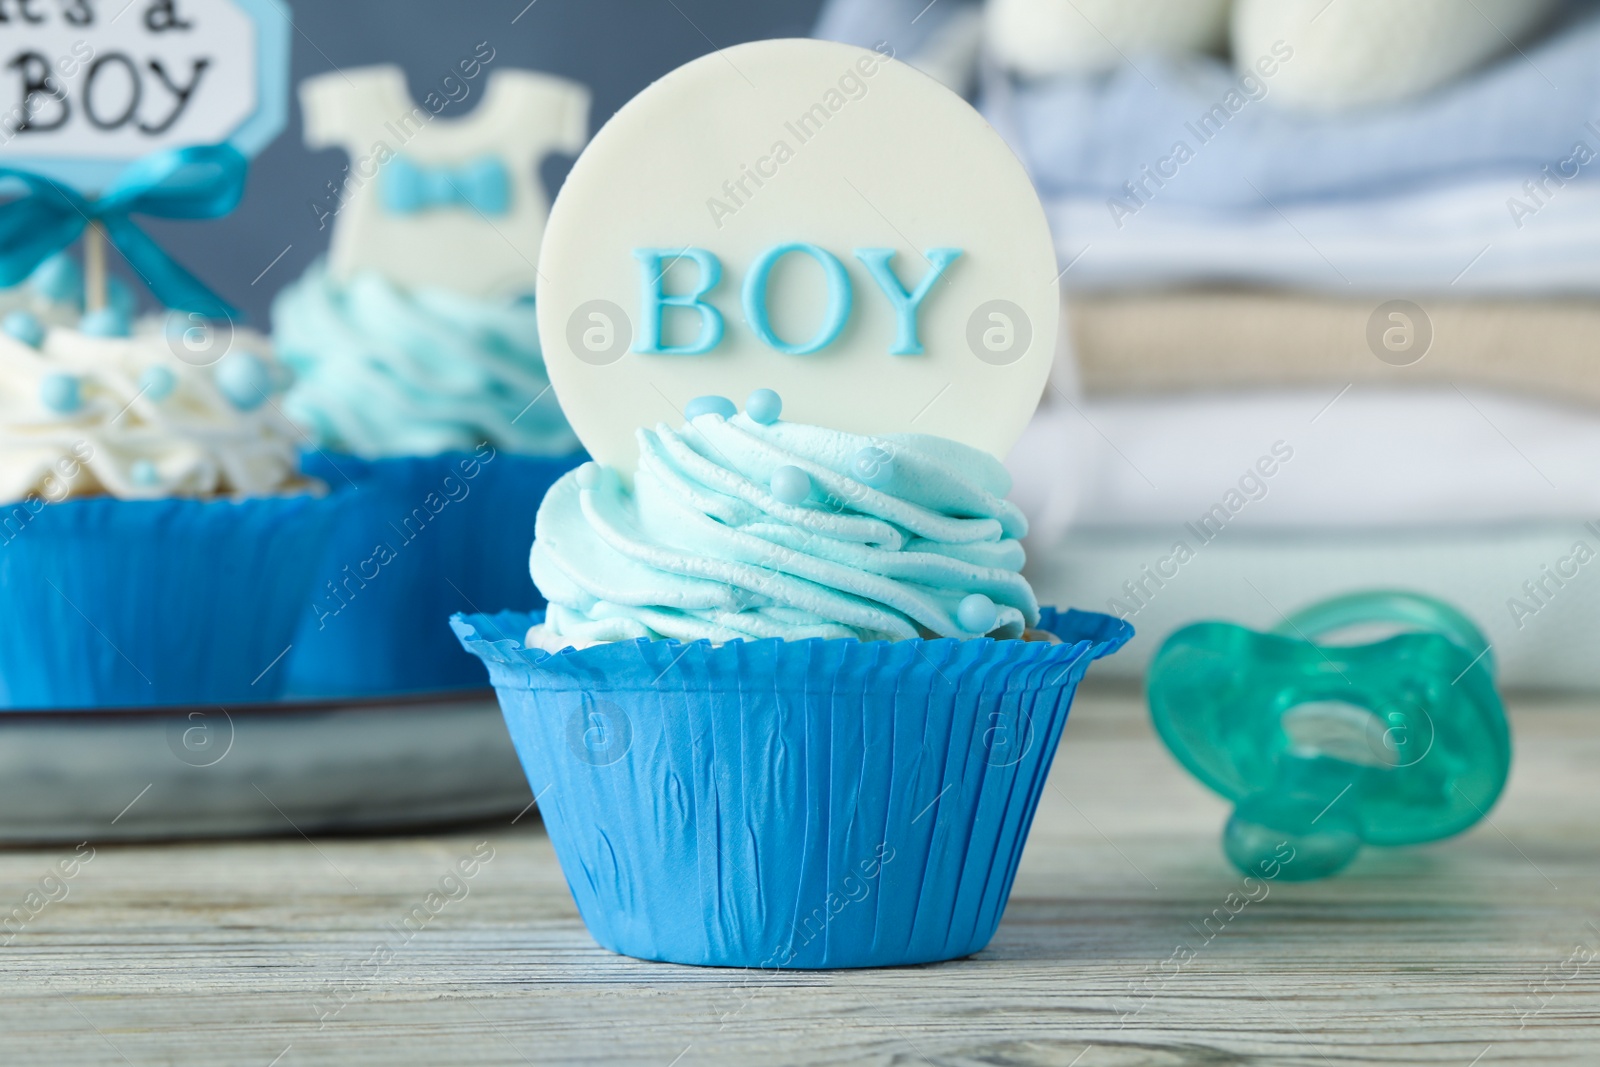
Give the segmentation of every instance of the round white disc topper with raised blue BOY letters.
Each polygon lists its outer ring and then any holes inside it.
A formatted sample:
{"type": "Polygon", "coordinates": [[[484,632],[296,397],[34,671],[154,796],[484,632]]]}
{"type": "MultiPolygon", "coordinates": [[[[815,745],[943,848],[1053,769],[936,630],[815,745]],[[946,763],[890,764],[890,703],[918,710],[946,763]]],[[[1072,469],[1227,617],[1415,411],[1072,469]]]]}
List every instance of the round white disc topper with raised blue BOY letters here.
{"type": "Polygon", "coordinates": [[[885,54],[770,40],[666,75],[595,134],[539,278],[550,382],[592,456],[755,389],[782,418],[1005,456],[1059,320],[1043,208],[962,98],[885,54]]]}

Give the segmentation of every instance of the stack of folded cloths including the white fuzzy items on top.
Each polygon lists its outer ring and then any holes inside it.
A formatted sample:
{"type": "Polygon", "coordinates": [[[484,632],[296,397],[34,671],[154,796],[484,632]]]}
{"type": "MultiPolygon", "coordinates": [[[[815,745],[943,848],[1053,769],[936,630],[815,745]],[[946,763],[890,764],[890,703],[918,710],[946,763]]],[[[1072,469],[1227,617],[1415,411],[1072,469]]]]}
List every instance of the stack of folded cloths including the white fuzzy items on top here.
{"type": "Polygon", "coordinates": [[[1064,352],[1011,461],[1040,597],[1262,629],[1408,587],[1600,688],[1600,6],[834,0],[1045,200],[1064,352]],[[1230,53],[1230,58],[1222,58],[1230,53]]]}

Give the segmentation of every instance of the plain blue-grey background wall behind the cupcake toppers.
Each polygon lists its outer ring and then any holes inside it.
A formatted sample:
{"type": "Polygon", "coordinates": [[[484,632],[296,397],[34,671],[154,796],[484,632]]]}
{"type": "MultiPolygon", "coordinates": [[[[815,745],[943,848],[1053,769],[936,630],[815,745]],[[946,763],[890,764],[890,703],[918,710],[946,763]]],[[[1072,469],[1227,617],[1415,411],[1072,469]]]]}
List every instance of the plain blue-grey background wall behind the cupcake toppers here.
{"type": "MultiPolygon", "coordinates": [[[[712,48],[762,37],[802,37],[821,0],[286,0],[294,11],[293,83],[338,67],[397,62],[421,99],[478,42],[490,69],[530,67],[589,85],[590,133],[645,85],[712,48]],[[522,13],[520,18],[518,11],[522,13]],[[515,22],[512,19],[515,18],[515,22]]],[[[482,98],[442,117],[470,114],[482,98]]],[[[256,160],[245,202],[216,222],[147,221],[150,234],[222,298],[264,328],[274,293],[328,246],[310,203],[346,165],[339,150],[309,152],[298,101],[290,126],[256,160]],[[288,253],[259,278],[272,258],[288,253]]],[[[571,160],[542,170],[555,192],[571,160]]],[[[112,256],[115,259],[115,256],[112,256]]],[[[136,290],[141,286],[134,285],[136,290]]],[[[141,290],[141,299],[149,299],[141,290]]]]}

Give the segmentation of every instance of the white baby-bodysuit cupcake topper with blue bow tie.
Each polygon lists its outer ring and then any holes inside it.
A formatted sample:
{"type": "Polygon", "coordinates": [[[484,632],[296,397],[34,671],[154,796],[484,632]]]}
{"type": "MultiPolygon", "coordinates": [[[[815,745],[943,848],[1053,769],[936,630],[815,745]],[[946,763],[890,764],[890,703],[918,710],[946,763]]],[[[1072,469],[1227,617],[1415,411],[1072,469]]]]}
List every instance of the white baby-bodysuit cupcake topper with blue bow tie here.
{"type": "Polygon", "coordinates": [[[584,146],[589,90],[533,70],[494,70],[485,85],[493,59],[478,45],[421,102],[392,66],[301,83],[306,144],[350,157],[344,181],[312,205],[318,221],[334,216],[336,278],[376,270],[410,288],[533,293],[550,213],[539,163],[584,146]],[[462,118],[437,117],[477,91],[462,118]]]}

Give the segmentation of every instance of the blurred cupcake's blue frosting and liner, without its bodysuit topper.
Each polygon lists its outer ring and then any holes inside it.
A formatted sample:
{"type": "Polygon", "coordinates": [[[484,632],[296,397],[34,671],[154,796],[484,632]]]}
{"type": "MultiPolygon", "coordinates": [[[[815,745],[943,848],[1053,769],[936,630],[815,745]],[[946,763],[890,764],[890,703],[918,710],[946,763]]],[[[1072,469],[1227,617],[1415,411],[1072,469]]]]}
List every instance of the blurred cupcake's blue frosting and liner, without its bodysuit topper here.
{"type": "Polygon", "coordinates": [[[360,486],[323,558],[291,691],[339,697],[482,685],[445,619],[538,603],[538,499],[578,464],[549,390],[534,307],[405,290],[323,264],[272,312],[294,371],[285,411],[309,474],[360,486]]]}

